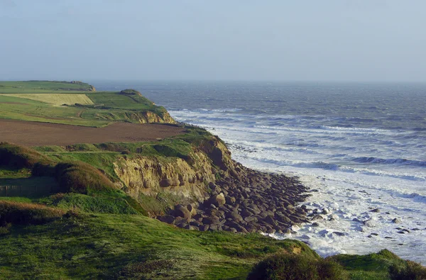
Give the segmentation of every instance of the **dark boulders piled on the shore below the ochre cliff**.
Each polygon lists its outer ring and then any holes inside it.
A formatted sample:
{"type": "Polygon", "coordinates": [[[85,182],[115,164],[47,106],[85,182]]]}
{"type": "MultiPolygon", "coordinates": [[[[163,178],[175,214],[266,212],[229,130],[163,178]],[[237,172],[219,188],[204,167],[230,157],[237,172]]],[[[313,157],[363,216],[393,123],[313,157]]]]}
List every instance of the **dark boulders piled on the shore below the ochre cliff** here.
{"type": "Polygon", "coordinates": [[[226,230],[234,233],[288,233],[307,223],[309,196],[296,178],[268,174],[237,164],[231,176],[208,184],[211,196],[198,205],[178,204],[158,220],[188,230],[226,230]]]}

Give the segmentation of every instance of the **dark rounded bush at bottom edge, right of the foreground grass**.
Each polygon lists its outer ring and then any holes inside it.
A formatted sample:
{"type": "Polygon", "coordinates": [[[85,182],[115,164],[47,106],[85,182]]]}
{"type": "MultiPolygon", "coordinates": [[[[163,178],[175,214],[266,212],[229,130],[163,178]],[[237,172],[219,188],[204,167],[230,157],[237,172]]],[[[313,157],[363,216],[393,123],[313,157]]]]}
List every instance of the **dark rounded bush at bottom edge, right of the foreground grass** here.
{"type": "Polygon", "coordinates": [[[345,279],[342,267],[330,259],[302,254],[275,254],[256,264],[247,279],[345,279]]]}

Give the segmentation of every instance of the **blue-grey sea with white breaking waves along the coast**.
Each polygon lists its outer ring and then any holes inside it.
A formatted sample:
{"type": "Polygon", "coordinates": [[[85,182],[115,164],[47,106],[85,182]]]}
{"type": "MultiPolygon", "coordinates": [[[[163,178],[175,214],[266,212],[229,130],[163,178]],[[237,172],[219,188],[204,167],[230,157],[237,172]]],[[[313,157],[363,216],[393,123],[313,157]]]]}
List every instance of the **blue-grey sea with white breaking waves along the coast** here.
{"type": "Polygon", "coordinates": [[[273,237],[324,257],[386,248],[426,264],[426,84],[93,84],[141,91],[177,121],[219,135],[246,167],[299,177],[312,194],[302,204],[328,214],[273,237]]]}

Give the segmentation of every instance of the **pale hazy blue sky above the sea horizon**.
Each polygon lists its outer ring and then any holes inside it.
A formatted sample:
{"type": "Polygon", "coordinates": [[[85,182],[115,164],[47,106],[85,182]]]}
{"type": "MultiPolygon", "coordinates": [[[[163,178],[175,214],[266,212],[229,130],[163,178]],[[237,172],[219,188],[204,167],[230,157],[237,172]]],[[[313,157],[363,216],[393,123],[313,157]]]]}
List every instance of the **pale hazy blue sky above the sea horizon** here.
{"type": "Polygon", "coordinates": [[[426,1],[0,0],[0,79],[426,82],[426,1]]]}

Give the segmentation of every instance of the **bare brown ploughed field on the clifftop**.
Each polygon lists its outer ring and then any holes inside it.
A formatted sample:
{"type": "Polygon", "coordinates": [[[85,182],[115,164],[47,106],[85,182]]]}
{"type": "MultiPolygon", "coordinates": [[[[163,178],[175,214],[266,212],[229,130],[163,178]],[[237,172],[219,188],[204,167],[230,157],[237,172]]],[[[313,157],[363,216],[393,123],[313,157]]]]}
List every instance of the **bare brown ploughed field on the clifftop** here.
{"type": "Polygon", "coordinates": [[[179,135],[183,131],[183,128],[160,124],[113,123],[104,128],[89,128],[0,119],[0,142],[26,146],[153,141],[179,135]]]}

